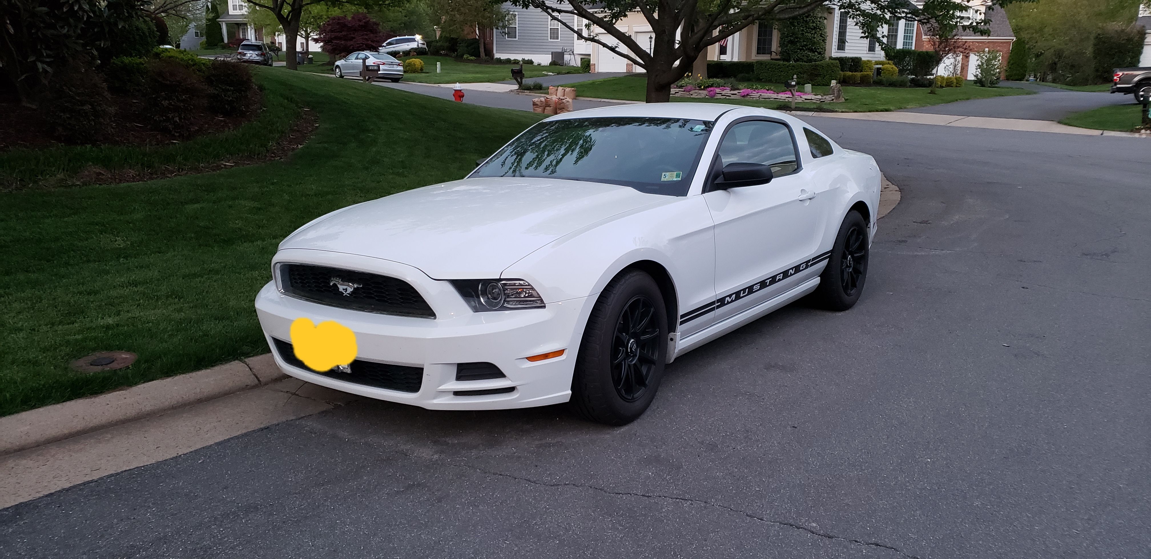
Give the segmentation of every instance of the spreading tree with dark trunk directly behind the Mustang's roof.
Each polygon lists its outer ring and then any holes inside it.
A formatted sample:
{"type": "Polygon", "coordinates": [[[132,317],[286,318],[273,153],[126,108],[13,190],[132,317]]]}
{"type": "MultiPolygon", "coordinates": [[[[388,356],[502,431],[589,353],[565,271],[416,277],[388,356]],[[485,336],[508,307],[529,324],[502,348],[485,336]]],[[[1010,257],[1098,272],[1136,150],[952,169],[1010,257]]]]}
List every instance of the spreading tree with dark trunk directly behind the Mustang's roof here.
{"type": "MultiPolygon", "coordinates": [[[[1013,0],[991,0],[997,5],[1013,0]]],[[[1022,0],[1019,0],[1022,1],[1022,0]]],[[[922,9],[908,0],[511,0],[523,8],[538,8],[577,37],[595,43],[647,70],[647,101],[670,100],[671,86],[702,61],[707,48],[757,21],[784,22],[813,12],[824,13],[831,5],[847,12],[864,29],[877,35],[892,15],[917,17],[922,9]],[[639,12],[651,26],[651,51],[641,47],[624,30],[616,28],[628,13],[639,12]],[[582,29],[564,20],[578,16],[588,22],[582,29]],[[600,28],[608,38],[601,38],[600,28]]],[[[961,0],[925,0],[962,13],[961,0]]],[[[875,37],[875,35],[872,35],[875,37]]]]}

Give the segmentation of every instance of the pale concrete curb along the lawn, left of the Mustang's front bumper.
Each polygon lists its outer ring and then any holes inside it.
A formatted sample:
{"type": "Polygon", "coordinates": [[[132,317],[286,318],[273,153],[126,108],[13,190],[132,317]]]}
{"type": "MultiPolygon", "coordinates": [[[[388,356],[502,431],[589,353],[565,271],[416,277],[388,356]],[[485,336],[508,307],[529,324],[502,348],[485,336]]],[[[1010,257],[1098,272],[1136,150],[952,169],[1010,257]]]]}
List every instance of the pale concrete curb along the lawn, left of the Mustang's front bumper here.
{"type": "Polygon", "coordinates": [[[0,418],[0,455],[228,396],[284,378],[272,354],[0,418]]]}

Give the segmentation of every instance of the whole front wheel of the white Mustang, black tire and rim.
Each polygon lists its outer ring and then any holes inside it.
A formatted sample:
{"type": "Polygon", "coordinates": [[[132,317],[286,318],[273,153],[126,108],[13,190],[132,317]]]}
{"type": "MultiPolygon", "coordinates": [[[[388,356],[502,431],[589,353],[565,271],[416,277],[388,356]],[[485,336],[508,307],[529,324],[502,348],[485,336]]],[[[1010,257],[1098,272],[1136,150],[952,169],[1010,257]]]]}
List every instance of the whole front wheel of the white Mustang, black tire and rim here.
{"type": "Polygon", "coordinates": [[[600,293],[584,330],[571,404],[585,419],[631,423],[651,405],[663,380],[668,312],[651,276],[633,270],[600,293]]]}

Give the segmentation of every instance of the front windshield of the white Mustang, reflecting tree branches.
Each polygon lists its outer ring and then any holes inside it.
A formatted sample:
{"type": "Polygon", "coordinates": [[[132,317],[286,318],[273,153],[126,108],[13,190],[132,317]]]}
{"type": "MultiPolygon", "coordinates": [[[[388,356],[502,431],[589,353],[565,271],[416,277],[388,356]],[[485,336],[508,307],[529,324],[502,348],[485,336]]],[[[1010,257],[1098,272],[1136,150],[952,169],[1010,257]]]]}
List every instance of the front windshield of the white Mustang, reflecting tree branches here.
{"type": "Polygon", "coordinates": [[[471,176],[565,178],[686,196],[712,124],[637,116],[541,122],[471,176]]]}

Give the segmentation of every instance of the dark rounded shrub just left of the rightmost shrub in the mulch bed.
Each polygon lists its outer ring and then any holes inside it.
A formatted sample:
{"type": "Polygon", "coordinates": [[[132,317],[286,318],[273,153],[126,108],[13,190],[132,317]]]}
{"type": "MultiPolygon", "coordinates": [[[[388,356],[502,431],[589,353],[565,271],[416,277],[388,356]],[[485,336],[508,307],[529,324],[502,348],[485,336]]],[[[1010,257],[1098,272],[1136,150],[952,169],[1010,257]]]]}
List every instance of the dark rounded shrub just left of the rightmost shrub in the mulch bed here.
{"type": "Polygon", "coordinates": [[[159,60],[148,68],[148,89],[144,107],[157,130],[174,136],[191,136],[196,114],[206,97],[204,82],[183,64],[159,60]]]}

